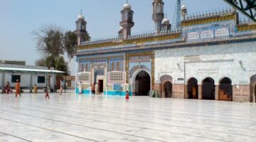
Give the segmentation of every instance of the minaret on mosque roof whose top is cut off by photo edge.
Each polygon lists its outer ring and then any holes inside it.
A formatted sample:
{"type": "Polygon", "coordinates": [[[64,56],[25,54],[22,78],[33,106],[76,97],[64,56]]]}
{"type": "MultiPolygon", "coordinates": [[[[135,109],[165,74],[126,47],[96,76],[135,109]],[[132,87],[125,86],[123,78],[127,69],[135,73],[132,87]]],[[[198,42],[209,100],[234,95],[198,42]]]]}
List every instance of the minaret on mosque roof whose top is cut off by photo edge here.
{"type": "Polygon", "coordinates": [[[155,31],[158,34],[161,31],[161,21],[164,19],[164,2],[162,0],[154,0],[152,18],[155,22],[155,31]]]}

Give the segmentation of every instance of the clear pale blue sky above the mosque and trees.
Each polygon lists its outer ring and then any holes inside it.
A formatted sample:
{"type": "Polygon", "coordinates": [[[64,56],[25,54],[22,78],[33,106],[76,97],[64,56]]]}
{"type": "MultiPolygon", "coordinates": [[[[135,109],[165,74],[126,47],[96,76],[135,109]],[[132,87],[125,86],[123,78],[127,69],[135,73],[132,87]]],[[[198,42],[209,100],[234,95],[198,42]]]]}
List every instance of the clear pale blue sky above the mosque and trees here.
{"type": "MultiPolygon", "coordinates": [[[[126,0],[0,0],[0,60],[25,60],[34,65],[41,58],[31,32],[50,23],[75,30],[82,9],[92,38],[117,36],[120,11],[126,0]]],[[[154,30],[153,0],[129,0],[134,11],[132,33],[154,30]]],[[[176,0],[164,0],[164,13],[172,21],[176,0]]],[[[223,0],[185,0],[188,13],[229,7],[223,0]]],[[[75,68],[74,64],[70,65],[75,68]]]]}

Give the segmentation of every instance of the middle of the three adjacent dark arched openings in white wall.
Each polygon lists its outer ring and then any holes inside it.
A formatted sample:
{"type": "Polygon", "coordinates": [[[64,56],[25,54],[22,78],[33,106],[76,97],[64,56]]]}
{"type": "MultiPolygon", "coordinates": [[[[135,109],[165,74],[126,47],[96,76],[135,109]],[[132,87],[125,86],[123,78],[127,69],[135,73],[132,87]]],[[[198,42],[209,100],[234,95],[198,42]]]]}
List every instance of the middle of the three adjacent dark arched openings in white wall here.
{"type": "Polygon", "coordinates": [[[215,84],[212,78],[207,77],[203,80],[202,94],[203,99],[215,99],[215,84]]]}

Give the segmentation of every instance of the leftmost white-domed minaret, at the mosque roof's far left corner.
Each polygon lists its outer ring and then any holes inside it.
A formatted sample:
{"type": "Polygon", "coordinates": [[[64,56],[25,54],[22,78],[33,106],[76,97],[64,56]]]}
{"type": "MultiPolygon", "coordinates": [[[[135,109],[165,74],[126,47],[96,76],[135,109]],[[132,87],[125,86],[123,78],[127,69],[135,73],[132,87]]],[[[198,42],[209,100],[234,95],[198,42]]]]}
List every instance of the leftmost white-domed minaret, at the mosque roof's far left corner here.
{"type": "Polygon", "coordinates": [[[82,11],[78,16],[78,20],[75,21],[75,23],[76,23],[75,33],[78,36],[78,45],[81,45],[81,43],[85,41],[85,37],[87,35],[86,21],[85,21],[85,17],[82,16],[82,11]]]}

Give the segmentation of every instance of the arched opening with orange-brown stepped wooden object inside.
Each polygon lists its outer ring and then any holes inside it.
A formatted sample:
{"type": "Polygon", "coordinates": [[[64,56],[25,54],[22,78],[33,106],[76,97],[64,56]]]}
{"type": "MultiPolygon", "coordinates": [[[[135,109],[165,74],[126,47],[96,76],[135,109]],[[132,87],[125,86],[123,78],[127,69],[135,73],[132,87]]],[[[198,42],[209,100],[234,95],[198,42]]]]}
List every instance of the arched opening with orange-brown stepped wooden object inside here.
{"type": "Polygon", "coordinates": [[[220,80],[219,99],[220,101],[233,101],[232,81],[228,77],[220,80]]]}

